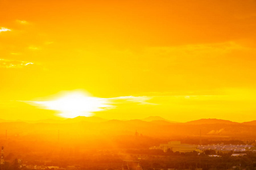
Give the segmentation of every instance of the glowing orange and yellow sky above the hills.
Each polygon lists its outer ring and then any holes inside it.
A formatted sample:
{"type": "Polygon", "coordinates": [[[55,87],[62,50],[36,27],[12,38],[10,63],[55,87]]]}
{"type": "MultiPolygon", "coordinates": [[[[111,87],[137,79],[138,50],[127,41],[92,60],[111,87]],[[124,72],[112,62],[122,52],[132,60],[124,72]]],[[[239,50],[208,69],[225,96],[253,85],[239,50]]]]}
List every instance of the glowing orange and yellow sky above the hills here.
{"type": "Polygon", "coordinates": [[[0,0],[0,118],[80,92],[84,116],[256,120],[255,30],[255,0],[0,0]]]}

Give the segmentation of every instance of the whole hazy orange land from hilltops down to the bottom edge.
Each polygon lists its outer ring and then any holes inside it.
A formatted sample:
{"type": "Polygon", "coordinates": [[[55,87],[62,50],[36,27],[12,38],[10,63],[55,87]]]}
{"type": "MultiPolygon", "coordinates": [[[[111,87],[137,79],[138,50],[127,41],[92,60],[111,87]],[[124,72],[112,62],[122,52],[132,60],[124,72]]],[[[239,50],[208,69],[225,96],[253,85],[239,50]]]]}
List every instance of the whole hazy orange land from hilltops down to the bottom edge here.
{"type": "Polygon", "coordinates": [[[256,163],[255,153],[246,149],[240,150],[244,156],[231,156],[235,150],[209,150],[230,144],[255,147],[255,125],[112,120],[63,124],[2,122],[0,127],[5,170],[120,169],[123,160],[139,161],[144,170],[255,169],[256,163]],[[201,143],[207,150],[181,154],[149,150],[169,141],[196,146],[201,143]],[[209,156],[215,154],[218,156],[209,156]]]}

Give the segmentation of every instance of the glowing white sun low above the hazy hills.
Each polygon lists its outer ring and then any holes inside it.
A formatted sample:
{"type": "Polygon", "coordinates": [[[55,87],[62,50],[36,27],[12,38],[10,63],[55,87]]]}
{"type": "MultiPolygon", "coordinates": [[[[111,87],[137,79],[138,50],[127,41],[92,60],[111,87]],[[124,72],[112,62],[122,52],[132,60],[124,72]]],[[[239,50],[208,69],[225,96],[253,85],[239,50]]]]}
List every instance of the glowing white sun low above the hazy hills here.
{"type": "Polygon", "coordinates": [[[74,118],[92,116],[93,112],[102,111],[110,106],[104,98],[90,97],[82,92],[71,92],[52,101],[34,101],[45,109],[59,111],[59,116],[74,118]]]}

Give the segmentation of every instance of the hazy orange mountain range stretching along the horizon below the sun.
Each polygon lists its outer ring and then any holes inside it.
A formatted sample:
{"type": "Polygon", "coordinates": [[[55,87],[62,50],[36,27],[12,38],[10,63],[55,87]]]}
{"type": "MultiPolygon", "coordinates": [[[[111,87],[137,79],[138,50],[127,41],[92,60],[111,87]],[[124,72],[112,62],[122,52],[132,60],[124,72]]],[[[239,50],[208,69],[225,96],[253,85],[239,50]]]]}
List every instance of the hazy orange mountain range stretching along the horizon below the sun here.
{"type": "MultiPolygon", "coordinates": [[[[254,139],[256,121],[232,122],[215,118],[189,122],[172,122],[162,117],[147,117],[143,120],[105,120],[100,117],[75,117],[65,120],[5,121],[0,120],[0,128],[13,137],[56,138],[58,131],[65,141],[71,139],[139,135],[154,138],[204,138],[214,139],[254,139]],[[146,121],[145,121],[146,120],[146,121]],[[65,137],[65,138],[64,138],[65,137]]],[[[0,139],[3,135],[0,133],[0,139]]],[[[0,140],[1,141],[1,140],[0,140]]]]}

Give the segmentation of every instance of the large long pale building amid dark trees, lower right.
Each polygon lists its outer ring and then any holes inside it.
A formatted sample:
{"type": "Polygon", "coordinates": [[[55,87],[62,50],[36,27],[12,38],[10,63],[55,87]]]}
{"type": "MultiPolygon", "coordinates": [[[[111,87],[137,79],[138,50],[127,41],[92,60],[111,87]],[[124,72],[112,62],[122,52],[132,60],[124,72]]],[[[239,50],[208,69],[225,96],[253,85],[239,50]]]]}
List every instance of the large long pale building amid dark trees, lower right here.
{"type": "Polygon", "coordinates": [[[168,150],[172,152],[193,152],[197,150],[196,145],[189,145],[186,143],[180,143],[180,141],[171,141],[168,143],[160,144],[159,147],[150,147],[150,149],[160,149],[164,152],[167,152],[168,150]]]}

